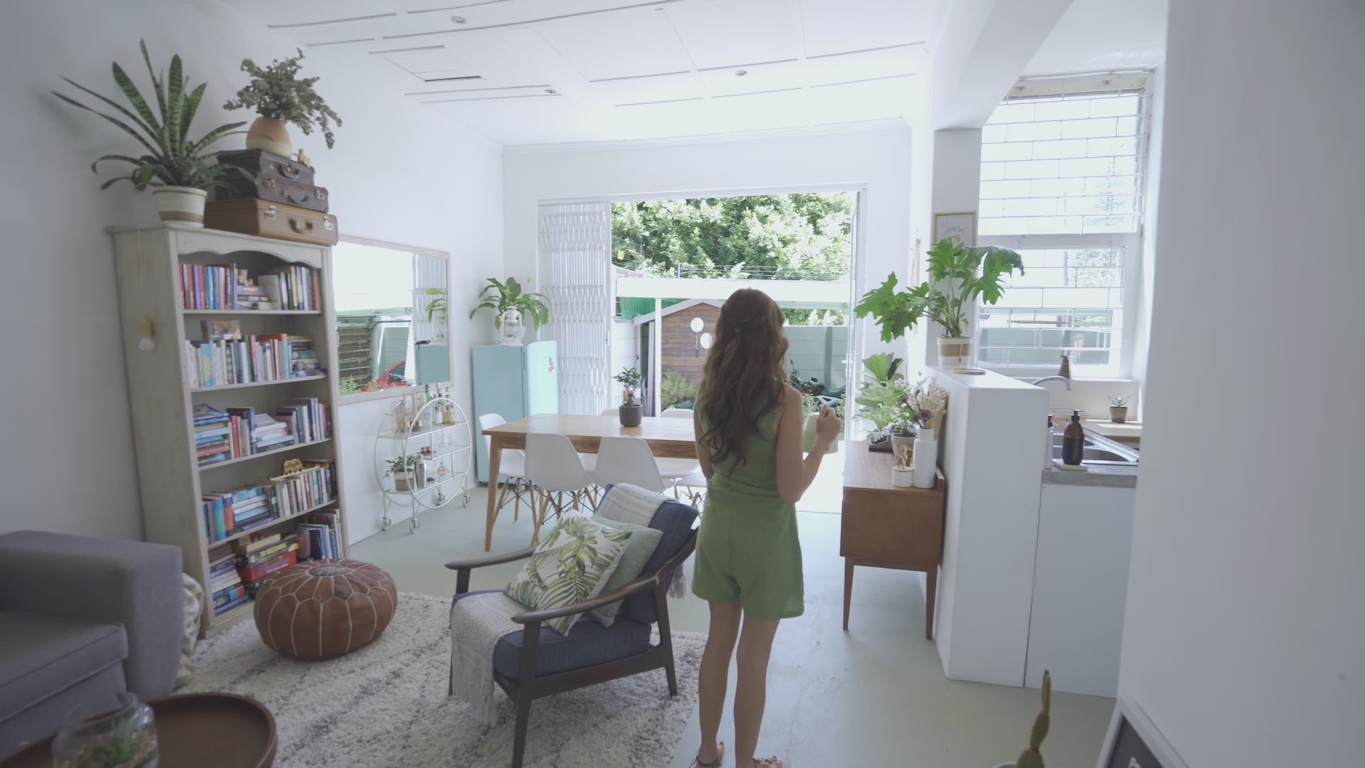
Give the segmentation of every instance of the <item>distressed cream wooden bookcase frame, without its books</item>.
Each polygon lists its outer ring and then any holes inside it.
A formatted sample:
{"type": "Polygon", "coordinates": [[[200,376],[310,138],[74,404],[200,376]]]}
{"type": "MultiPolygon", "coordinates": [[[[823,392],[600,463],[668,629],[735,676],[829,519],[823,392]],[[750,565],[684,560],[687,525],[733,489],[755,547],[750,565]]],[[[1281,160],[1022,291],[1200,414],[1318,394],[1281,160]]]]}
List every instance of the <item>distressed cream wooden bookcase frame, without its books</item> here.
{"type": "MultiPolygon", "coordinates": [[[[213,634],[251,616],[251,600],[213,615],[209,563],[228,552],[238,534],[209,543],[201,496],[243,485],[269,484],[283,473],[287,459],[330,459],[336,478],[334,502],[319,508],[340,514],[339,538],[347,551],[345,504],[341,497],[344,469],[337,448],[341,418],[337,409],[336,312],[332,306],[332,249],[270,238],[202,230],[183,224],[111,227],[119,280],[119,314],[123,321],[123,350],[132,404],[132,432],[138,452],[138,481],[142,489],[142,519],[147,541],[175,544],[184,556],[184,571],[205,588],[202,631],[213,634]],[[318,269],[315,310],[183,309],[182,264],[233,262],[251,275],[274,266],[304,265],[318,269]],[[139,340],[150,321],[156,347],[142,351],[139,340]],[[186,374],[186,339],[201,339],[201,321],[236,320],[243,335],[298,333],[308,336],[326,376],[287,379],[251,384],[191,387],[186,374]],[[295,444],[276,451],[244,455],[209,466],[198,466],[194,437],[194,407],[207,403],[218,410],[254,407],[274,414],[291,398],[317,398],[330,410],[330,439],[295,444]]],[[[303,512],[276,518],[247,533],[288,533],[303,512]]]]}

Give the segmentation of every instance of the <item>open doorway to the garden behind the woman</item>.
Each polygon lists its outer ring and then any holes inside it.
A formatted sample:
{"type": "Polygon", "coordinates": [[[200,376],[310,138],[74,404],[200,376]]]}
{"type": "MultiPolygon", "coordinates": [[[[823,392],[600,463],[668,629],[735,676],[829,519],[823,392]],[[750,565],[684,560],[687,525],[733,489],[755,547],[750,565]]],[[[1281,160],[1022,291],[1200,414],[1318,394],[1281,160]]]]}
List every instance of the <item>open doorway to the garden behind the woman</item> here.
{"type": "MultiPolygon", "coordinates": [[[[842,418],[857,202],[849,190],[613,202],[612,373],[644,374],[647,413],[691,409],[721,306],[753,287],[786,316],[788,374],[805,407],[842,418]]],[[[800,510],[839,511],[842,465],[842,450],[827,456],[800,510]]]]}

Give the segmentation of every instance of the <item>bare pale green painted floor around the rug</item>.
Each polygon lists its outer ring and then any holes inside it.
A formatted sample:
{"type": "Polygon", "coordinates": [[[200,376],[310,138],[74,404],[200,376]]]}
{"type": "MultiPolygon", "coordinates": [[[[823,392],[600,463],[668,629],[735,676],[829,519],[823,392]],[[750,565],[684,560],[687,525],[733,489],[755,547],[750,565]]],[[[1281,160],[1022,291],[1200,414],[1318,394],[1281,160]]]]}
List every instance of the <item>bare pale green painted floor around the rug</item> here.
{"type": "MultiPolygon", "coordinates": [[[[429,512],[416,533],[397,522],[352,547],[351,556],[389,571],[400,590],[452,594],[455,573],[442,564],[483,555],[485,499],[478,488],[468,508],[429,512]]],[[[805,615],[784,622],[777,633],[759,754],[777,753],[793,768],[992,768],[1018,756],[1037,712],[1037,691],[946,679],[934,644],[924,640],[917,574],[859,568],[850,631],[842,631],[839,517],[801,512],[800,526],[805,615]]],[[[494,552],[530,540],[526,515],[513,522],[509,507],[498,517],[494,552]]],[[[471,588],[501,588],[519,567],[475,571],[471,588]]],[[[706,603],[696,597],[670,601],[669,612],[677,631],[707,630],[706,603]]],[[[733,685],[733,671],[730,679],[733,685]]],[[[546,705],[553,700],[536,704],[546,705]]],[[[1108,698],[1054,694],[1047,765],[1093,767],[1111,708],[1108,698]]],[[[693,709],[669,768],[687,768],[696,754],[696,717],[693,709]]],[[[729,712],[721,739],[734,742],[729,712]]]]}

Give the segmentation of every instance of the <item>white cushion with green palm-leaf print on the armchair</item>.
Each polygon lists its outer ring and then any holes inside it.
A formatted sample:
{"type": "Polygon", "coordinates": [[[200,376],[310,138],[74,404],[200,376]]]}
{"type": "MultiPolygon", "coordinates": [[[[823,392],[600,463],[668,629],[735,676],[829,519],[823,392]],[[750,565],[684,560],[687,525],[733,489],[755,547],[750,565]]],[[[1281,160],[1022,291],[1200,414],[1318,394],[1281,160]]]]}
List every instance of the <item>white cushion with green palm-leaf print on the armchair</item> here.
{"type": "MultiPolygon", "coordinates": [[[[631,534],[569,515],[541,540],[521,573],[508,582],[508,597],[532,611],[564,608],[597,597],[616,570],[631,534]]],[[[560,634],[569,634],[583,614],[549,622],[560,634]]]]}

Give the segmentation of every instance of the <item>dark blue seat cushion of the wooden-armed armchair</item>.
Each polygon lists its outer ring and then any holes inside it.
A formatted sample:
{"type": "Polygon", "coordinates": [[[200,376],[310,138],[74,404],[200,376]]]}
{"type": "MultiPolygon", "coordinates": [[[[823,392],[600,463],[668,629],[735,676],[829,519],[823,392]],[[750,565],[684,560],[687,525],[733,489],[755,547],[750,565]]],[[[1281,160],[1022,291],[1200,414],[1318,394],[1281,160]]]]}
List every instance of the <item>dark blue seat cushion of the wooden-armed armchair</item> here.
{"type": "MultiPolygon", "coordinates": [[[[465,592],[456,594],[450,600],[450,607],[471,594],[487,594],[501,592],[486,589],[483,592],[465,592]]],[[[493,668],[509,678],[521,674],[521,644],[526,633],[512,633],[498,641],[493,649],[493,668]]],[[[553,675],[580,667],[592,667],[635,656],[650,649],[650,625],[636,622],[628,616],[617,616],[610,627],[603,627],[597,622],[576,622],[565,637],[553,629],[541,625],[541,646],[536,653],[535,674],[553,675]]]]}

